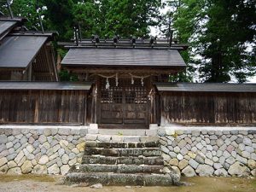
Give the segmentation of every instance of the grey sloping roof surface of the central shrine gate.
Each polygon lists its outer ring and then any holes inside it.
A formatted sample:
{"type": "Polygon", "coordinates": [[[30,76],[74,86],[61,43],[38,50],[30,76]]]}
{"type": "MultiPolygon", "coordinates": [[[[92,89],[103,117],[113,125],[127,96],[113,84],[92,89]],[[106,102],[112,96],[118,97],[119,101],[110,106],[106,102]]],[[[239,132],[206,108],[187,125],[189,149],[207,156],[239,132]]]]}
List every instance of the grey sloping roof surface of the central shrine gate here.
{"type": "Polygon", "coordinates": [[[63,66],[86,67],[185,67],[177,49],[71,48],[63,66]]]}

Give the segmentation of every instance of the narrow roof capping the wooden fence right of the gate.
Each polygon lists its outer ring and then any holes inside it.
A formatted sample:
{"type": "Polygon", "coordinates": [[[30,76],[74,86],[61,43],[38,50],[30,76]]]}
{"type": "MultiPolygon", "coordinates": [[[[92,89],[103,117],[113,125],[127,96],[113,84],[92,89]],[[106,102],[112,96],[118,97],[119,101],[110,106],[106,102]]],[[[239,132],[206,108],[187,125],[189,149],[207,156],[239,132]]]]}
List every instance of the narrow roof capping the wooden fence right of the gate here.
{"type": "Polygon", "coordinates": [[[180,92],[256,92],[256,84],[193,84],[193,83],[155,83],[159,91],[180,92]]]}

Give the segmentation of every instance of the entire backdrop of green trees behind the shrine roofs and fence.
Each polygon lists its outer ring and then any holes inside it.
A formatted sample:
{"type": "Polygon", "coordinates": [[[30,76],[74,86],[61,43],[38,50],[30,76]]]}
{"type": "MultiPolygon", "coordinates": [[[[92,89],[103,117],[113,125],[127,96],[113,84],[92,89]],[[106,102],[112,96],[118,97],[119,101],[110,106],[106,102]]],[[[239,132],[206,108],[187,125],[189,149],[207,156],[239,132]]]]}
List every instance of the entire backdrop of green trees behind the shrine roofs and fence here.
{"type": "MultiPolygon", "coordinates": [[[[168,25],[174,38],[189,43],[183,52],[187,73],[172,81],[245,82],[256,73],[256,0],[170,0],[161,16],[160,0],[13,0],[14,15],[26,17],[28,28],[40,29],[37,9],[45,30],[56,30],[57,40],[73,38],[73,27],[81,28],[83,38],[97,34],[112,38],[149,36],[149,26],[162,25],[168,37],[168,25]],[[170,20],[171,18],[171,20],[170,20]],[[160,22],[161,21],[161,22],[160,22]],[[190,74],[190,75],[189,75],[190,74]]],[[[6,1],[1,10],[8,15],[6,1]]]]}

